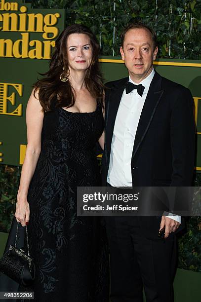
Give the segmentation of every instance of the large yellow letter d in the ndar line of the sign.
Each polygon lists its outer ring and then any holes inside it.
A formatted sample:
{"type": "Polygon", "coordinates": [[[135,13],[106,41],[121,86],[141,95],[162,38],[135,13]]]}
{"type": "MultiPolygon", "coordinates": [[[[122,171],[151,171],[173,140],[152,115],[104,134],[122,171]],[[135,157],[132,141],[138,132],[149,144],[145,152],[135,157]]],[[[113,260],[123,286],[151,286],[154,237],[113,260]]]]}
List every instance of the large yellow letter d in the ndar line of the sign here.
{"type": "Polygon", "coordinates": [[[13,56],[15,58],[28,58],[29,33],[23,33],[22,39],[16,40],[13,44],[13,56]],[[21,52],[20,52],[21,49],[21,52]]]}

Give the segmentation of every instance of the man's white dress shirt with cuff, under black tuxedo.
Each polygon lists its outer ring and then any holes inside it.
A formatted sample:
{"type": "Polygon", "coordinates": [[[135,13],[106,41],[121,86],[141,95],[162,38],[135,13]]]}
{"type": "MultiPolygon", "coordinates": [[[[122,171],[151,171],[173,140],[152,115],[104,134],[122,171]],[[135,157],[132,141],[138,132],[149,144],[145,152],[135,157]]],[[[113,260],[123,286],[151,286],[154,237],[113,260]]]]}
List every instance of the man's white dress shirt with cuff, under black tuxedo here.
{"type": "MultiPolygon", "coordinates": [[[[137,93],[136,89],[128,94],[125,93],[125,89],[123,91],[115,120],[107,177],[107,182],[113,187],[132,187],[131,157],[133,145],[140,115],[154,74],[153,68],[150,75],[140,83],[133,82],[129,76],[129,82],[135,85],[142,84],[145,87],[142,96],[137,93]]],[[[181,223],[180,216],[172,215],[169,213],[168,217],[181,223]]]]}

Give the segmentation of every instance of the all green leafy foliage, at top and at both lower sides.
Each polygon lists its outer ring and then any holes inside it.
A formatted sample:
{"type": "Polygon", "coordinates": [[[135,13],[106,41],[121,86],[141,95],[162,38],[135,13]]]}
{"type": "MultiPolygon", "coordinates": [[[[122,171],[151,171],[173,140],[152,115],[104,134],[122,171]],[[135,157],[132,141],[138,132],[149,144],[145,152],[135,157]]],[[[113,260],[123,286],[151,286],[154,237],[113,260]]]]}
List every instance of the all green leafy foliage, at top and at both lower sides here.
{"type": "MultiPolygon", "coordinates": [[[[201,0],[34,0],[35,8],[65,8],[66,25],[83,23],[96,34],[102,55],[119,55],[122,28],[132,20],[152,26],[161,58],[201,60],[201,0]]],[[[0,165],[0,231],[15,212],[21,167],[0,165]]],[[[195,174],[201,186],[201,174],[195,174]]],[[[179,237],[178,267],[201,271],[201,218],[190,217],[179,237]]]]}

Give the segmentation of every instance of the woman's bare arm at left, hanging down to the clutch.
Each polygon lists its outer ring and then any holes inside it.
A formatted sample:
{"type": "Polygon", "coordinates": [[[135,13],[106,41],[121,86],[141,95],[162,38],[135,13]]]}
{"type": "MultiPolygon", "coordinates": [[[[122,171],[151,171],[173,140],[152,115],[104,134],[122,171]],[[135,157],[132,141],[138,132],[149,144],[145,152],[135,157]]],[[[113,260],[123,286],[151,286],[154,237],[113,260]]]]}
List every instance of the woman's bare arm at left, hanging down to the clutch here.
{"type": "MultiPolygon", "coordinates": [[[[38,93],[36,93],[38,97],[38,93]]],[[[34,96],[34,90],[29,98],[26,110],[27,149],[22,166],[20,186],[17,194],[15,217],[24,227],[29,221],[30,209],[27,201],[29,185],[36,169],[41,148],[41,130],[44,113],[39,99],[34,96]]]]}

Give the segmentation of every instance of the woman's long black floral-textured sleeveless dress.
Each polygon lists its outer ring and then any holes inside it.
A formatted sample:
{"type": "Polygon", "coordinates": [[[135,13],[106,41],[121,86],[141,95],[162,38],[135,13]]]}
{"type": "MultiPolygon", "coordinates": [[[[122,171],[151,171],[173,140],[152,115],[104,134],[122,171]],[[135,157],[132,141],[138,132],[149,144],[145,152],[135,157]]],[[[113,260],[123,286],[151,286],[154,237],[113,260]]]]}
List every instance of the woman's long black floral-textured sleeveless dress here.
{"type": "MultiPolygon", "coordinates": [[[[44,114],[40,157],[31,181],[28,234],[37,265],[27,290],[37,302],[108,302],[108,251],[99,217],[77,217],[77,186],[99,186],[93,152],[104,127],[91,113],[44,114]]],[[[22,290],[22,289],[21,289],[22,290]]]]}

